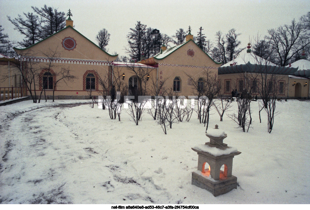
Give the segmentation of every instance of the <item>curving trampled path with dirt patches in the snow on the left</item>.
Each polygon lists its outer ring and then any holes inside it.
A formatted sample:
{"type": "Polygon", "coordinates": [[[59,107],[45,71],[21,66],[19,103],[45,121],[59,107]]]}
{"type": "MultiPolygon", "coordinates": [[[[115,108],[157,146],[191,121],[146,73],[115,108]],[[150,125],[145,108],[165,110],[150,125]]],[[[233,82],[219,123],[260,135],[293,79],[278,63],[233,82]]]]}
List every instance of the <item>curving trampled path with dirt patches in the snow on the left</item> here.
{"type": "Polygon", "coordinates": [[[65,183],[48,184],[48,180],[54,179],[55,171],[51,168],[42,173],[40,169],[42,164],[47,163],[45,160],[51,157],[49,155],[51,148],[55,151],[61,149],[60,145],[48,141],[46,136],[61,130],[70,135],[70,130],[56,120],[57,115],[62,109],[80,105],[82,104],[36,107],[31,111],[8,116],[0,128],[2,139],[6,140],[5,153],[0,160],[0,203],[70,203],[62,190],[65,183]],[[47,156],[45,160],[40,158],[44,156],[47,156]],[[19,173],[16,174],[16,171],[19,173]],[[23,182],[28,183],[27,185],[31,183],[33,186],[29,186],[30,189],[23,189],[21,184],[23,182]],[[34,188],[42,186],[43,182],[47,182],[44,187],[47,191],[43,190],[39,195],[32,193],[36,192],[34,188]],[[25,193],[27,190],[30,192],[25,193]],[[16,202],[17,200],[19,202],[16,202]]]}

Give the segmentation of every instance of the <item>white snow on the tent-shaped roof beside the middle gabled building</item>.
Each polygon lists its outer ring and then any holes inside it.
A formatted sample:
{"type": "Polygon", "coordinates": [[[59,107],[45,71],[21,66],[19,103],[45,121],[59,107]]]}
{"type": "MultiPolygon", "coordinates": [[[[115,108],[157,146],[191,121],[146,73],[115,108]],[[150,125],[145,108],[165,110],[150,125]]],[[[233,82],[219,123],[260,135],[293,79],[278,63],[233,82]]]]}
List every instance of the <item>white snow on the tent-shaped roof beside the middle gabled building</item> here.
{"type": "Polygon", "coordinates": [[[261,64],[261,65],[271,65],[271,66],[276,66],[274,63],[267,61],[263,59],[262,57],[259,57],[255,55],[253,52],[246,52],[246,48],[242,50],[239,55],[233,59],[232,61],[222,65],[223,66],[230,66],[232,65],[241,65],[241,64],[247,64],[250,62],[250,64],[261,64]]]}

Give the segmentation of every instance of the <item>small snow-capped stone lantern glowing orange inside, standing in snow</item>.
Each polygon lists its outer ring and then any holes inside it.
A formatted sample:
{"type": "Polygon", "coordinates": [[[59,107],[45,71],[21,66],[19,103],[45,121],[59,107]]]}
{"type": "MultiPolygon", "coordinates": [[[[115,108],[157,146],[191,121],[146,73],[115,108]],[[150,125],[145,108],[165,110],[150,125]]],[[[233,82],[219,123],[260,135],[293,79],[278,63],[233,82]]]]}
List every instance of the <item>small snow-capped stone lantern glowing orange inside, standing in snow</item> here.
{"type": "Polygon", "coordinates": [[[192,184],[206,189],[214,196],[237,189],[237,177],[232,175],[232,158],[241,152],[223,143],[227,134],[218,125],[208,130],[206,136],[210,142],[192,148],[198,154],[198,168],[192,172],[192,184]],[[206,163],[209,169],[205,168],[206,163]],[[224,171],[220,170],[223,165],[224,171]]]}

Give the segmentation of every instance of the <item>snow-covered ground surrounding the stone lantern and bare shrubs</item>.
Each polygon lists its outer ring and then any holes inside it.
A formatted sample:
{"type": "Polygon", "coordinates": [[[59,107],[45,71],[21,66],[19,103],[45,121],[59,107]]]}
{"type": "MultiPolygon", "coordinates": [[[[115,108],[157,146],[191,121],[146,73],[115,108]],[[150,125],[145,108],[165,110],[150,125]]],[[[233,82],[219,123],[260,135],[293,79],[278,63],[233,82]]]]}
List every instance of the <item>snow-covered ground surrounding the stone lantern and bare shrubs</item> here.
{"type": "Polygon", "coordinates": [[[211,111],[210,129],[218,124],[224,143],[242,152],[233,159],[238,188],[217,197],[191,184],[198,158],[191,147],[209,141],[197,115],[165,135],[147,112],[136,126],[125,111],[119,122],[107,110],[63,105],[84,102],[0,107],[0,203],[310,203],[309,101],[278,103],[271,134],[264,111],[259,123],[258,102],[247,133],[211,111]]]}

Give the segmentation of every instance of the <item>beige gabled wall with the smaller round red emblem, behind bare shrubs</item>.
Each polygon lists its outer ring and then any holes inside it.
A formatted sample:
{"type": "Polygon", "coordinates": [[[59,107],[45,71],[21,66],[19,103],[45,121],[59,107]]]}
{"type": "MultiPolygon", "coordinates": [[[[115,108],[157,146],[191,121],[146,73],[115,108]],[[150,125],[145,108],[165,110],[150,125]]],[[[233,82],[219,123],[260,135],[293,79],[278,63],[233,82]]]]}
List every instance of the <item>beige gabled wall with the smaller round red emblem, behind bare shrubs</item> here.
{"type": "Polygon", "coordinates": [[[177,93],[179,96],[197,94],[196,91],[193,90],[193,86],[190,85],[186,73],[194,76],[194,78],[204,78],[203,72],[205,69],[208,68],[208,71],[215,75],[218,71],[217,68],[221,65],[212,61],[212,59],[193,41],[184,44],[162,60],[155,60],[158,62],[159,81],[168,78],[166,80],[166,88],[173,88],[173,80],[175,77],[181,79],[181,91],[177,93]],[[194,51],[193,57],[187,54],[190,49],[194,51]],[[160,78],[161,76],[162,79],[160,78]]]}

